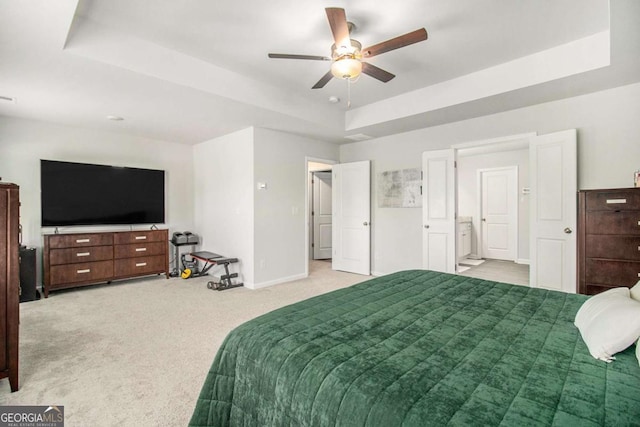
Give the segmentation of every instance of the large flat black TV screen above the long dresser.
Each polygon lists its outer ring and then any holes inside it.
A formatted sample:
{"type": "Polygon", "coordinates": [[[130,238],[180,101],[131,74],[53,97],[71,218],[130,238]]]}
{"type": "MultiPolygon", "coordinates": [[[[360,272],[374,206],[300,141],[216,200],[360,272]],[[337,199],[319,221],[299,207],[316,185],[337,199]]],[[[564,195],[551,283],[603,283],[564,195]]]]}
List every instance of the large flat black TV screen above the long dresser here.
{"type": "Polygon", "coordinates": [[[42,226],[164,223],[164,171],[40,160],[42,226]]]}

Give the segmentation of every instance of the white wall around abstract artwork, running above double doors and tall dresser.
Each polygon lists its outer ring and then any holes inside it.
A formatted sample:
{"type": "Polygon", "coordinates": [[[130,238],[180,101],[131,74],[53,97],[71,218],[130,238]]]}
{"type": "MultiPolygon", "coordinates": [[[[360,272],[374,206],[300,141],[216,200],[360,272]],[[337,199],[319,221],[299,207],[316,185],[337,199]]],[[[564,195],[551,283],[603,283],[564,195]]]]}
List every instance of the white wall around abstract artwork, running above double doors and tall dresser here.
{"type": "MultiPolygon", "coordinates": [[[[420,129],[340,147],[341,162],[372,160],[372,172],[421,167],[421,154],[452,144],[578,129],[578,186],[632,186],[640,168],[640,84],[420,129]]],[[[372,270],[422,266],[420,209],[376,207],[372,180],[372,270]]]]}

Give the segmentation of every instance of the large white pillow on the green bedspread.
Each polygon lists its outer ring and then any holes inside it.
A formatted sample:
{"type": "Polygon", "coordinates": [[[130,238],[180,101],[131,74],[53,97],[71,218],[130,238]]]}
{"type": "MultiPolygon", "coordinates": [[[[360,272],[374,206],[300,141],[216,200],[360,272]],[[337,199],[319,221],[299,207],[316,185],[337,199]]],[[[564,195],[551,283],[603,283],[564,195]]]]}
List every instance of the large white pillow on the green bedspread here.
{"type": "Polygon", "coordinates": [[[574,324],[589,353],[611,362],[640,337],[640,302],[630,298],[627,287],[609,289],[585,301],[574,324]]]}

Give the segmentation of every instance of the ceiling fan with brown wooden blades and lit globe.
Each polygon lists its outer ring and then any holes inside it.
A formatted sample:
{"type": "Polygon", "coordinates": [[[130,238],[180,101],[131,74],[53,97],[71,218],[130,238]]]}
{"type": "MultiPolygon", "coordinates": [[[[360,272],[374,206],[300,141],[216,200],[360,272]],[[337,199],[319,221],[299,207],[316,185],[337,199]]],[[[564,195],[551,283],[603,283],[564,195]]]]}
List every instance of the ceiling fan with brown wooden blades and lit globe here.
{"type": "Polygon", "coordinates": [[[374,44],[362,49],[362,44],[350,37],[353,24],[347,22],[344,9],[328,7],[325,9],[329,26],[333,33],[334,44],[331,46],[331,57],[314,55],[290,55],[284,53],[270,53],[269,58],[276,59],[306,59],[312,61],[332,61],[331,69],[313,86],[313,89],[323,88],[333,77],[353,80],[361,73],[367,74],[383,83],[395,77],[388,71],[364,62],[363,59],[372,58],[390,50],[399,49],[427,39],[427,30],[420,28],[374,44]]]}

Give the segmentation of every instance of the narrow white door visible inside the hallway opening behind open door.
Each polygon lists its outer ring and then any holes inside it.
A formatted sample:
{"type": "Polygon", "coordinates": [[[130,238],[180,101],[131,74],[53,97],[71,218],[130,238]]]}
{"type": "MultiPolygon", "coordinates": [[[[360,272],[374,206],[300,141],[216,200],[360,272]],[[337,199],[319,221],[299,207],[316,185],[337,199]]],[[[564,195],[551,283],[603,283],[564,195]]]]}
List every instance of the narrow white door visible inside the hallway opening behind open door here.
{"type": "Polygon", "coordinates": [[[313,173],[313,259],[331,258],[331,172],[313,173]]]}

